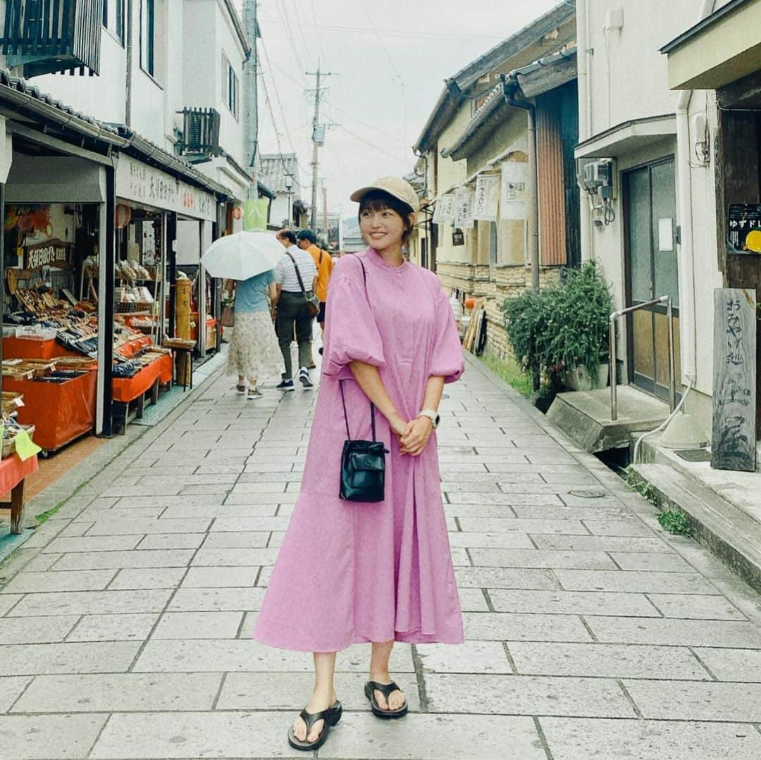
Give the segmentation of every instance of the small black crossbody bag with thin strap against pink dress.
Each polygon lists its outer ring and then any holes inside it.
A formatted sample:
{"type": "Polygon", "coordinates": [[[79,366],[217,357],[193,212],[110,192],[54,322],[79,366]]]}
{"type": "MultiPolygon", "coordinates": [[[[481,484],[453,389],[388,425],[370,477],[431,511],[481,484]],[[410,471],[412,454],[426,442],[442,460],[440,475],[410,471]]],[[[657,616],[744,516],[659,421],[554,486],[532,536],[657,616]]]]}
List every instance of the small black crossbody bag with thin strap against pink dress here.
{"type": "MultiPolygon", "coordinates": [[[[368,275],[365,265],[359,259],[362,267],[362,277],[365,279],[365,294],[367,294],[368,275]]],[[[339,380],[343,418],[346,423],[346,440],[341,453],[341,486],[339,498],[345,501],[383,501],[386,480],[386,454],[383,441],[375,440],[375,405],[370,404],[370,421],[373,440],[352,439],[349,431],[349,415],[346,412],[346,399],[343,393],[343,383],[339,380]]]]}

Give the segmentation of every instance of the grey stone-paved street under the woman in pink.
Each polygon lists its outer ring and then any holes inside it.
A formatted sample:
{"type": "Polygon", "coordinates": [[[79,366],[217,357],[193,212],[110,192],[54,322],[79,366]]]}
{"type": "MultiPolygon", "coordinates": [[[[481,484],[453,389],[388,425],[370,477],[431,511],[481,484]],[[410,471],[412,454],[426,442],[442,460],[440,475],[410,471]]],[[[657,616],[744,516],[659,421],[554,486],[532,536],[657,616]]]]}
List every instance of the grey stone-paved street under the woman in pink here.
{"type": "MultiPolygon", "coordinates": [[[[11,558],[0,757],[272,758],[311,658],[250,639],[298,498],[314,394],[218,377],[11,558]],[[35,549],[36,552],[30,552],[35,549]]],[[[411,711],[368,711],[338,659],[320,758],[761,757],[759,596],[469,361],[441,472],[467,642],[399,645],[411,711]]]]}

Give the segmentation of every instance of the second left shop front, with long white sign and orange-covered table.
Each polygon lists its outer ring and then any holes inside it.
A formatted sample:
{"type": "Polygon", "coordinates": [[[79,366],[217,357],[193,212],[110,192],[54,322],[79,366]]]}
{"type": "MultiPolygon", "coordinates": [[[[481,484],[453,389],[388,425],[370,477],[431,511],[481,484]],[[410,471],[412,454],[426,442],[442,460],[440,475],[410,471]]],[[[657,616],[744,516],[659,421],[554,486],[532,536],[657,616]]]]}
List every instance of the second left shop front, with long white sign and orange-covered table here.
{"type": "MultiPolygon", "coordinates": [[[[129,342],[133,332],[141,332],[147,345],[161,346],[168,336],[194,340],[199,355],[216,348],[214,288],[200,256],[213,240],[218,211],[215,194],[129,154],[119,155],[114,345],[120,335],[129,342]],[[183,271],[186,262],[193,264],[192,271],[190,267],[183,271]]],[[[154,361],[143,366],[136,365],[132,355],[119,357],[125,361],[114,367],[119,374],[113,381],[117,412],[118,405],[142,399],[157,383],[162,386],[171,380],[170,351],[154,351],[154,361]]]]}

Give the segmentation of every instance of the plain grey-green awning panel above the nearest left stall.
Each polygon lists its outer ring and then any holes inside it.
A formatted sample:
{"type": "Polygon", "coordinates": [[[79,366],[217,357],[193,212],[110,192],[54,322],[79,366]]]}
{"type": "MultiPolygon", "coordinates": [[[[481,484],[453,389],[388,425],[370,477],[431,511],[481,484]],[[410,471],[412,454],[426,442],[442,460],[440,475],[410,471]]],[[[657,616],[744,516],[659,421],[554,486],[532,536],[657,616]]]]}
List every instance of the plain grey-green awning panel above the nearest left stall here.
{"type": "Polygon", "coordinates": [[[73,156],[14,155],[5,186],[6,203],[101,203],[106,172],[73,156]]]}

